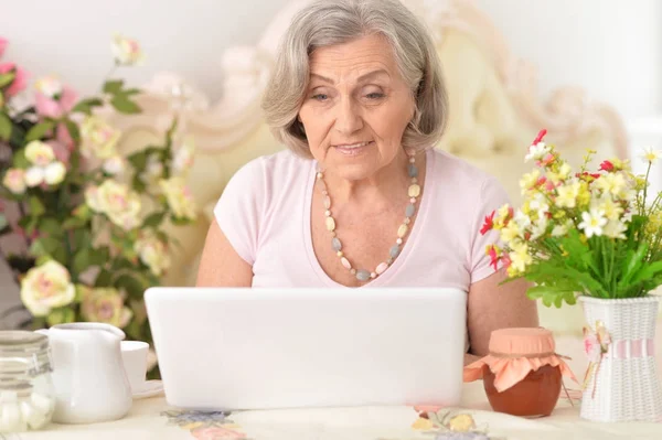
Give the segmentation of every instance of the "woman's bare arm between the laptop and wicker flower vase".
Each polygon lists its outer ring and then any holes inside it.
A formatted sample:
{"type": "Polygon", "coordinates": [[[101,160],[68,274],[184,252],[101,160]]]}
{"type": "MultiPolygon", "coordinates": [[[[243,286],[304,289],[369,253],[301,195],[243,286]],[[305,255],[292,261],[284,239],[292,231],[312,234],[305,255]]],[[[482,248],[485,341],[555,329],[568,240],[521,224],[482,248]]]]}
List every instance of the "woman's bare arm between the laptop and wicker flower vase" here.
{"type": "Polygon", "coordinates": [[[471,347],[465,364],[488,354],[493,330],[538,326],[536,302],[526,298],[530,283],[519,279],[499,286],[506,277],[505,269],[501,269],[469,288],[467,326],[471,347]]]}

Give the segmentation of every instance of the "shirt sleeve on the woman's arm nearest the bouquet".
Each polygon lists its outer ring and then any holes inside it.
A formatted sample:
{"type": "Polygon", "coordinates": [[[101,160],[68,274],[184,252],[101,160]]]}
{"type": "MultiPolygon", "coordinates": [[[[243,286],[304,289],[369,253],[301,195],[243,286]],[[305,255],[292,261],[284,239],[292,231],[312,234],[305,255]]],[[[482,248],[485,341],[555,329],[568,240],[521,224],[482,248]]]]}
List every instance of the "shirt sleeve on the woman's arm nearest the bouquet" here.
{"type": "Polygon", "coordinates": [[[510,197],[503,185],[495,179],[490,176],[487,179],[480,190],[480,202],[476,211],[476,219],[473,222],[473,245],[471,246],[471,283],[482,280],[494,273],[494,267],[491,266],[491,258],[485,254],[488,245],[500,245],[499,232],[490,230],[485,235],[480,233],[480,229],[493,211],[498,211],[506,203],[511,203],[510,197]]]}

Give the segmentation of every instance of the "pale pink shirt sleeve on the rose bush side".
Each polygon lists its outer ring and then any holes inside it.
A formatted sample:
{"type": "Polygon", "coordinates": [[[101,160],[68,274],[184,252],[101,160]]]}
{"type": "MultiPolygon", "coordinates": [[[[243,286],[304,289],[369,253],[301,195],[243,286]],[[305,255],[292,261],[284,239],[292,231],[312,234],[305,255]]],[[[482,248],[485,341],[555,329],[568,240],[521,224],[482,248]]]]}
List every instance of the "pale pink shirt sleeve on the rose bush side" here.
{"type": "Polygon", "coordinates": [[[268,197],[265,172],[259,158],[242,167],[214,207],[218,227],[237,255],[250,266],[255,262],[268,197]]]}

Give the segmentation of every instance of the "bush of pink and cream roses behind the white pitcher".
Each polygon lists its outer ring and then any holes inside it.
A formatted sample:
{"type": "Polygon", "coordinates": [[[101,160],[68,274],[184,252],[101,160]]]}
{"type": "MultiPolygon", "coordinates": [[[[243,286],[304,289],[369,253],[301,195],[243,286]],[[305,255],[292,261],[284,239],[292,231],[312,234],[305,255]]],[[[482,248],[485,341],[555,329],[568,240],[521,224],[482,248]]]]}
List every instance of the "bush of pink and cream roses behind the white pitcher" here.
{"type": "MultiPolygon", "coordinates": [[[[6,46],[0,39],[0,56],[6,46]]],[[[142,58],[138,43],[121,36],[113,52],[115,67],[142,58]]],[[[121,132],[102,117],[140,112],[140,90],[121,79],[78,99],[44,77],[19,109],[14,97],[26,85],[21,67],[0,64],[0,235],[22,240],[18,249],[0,246],[0,256],[20,285],[29,323],[106,322],[149,342],[142,294],[169,267],[166,228],[196,215],[184,185],[193,146],[177,139],[173,120],[162,144],[121,157],[121,132]]]]}

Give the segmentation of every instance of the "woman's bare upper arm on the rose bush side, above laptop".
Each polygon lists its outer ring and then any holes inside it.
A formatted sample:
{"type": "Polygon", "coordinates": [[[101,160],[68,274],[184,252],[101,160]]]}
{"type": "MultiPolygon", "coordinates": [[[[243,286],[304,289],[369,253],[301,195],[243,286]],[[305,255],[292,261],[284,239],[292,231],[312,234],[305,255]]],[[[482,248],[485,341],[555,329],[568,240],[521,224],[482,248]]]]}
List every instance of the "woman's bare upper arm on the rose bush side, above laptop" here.
{"type": "Polygon", "coordinates": [[[253,268],[232,247],[214,219],[197,269],[197,287],[250,287],[253,268]]]}

